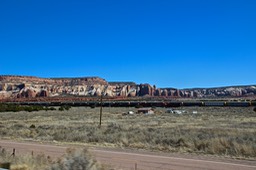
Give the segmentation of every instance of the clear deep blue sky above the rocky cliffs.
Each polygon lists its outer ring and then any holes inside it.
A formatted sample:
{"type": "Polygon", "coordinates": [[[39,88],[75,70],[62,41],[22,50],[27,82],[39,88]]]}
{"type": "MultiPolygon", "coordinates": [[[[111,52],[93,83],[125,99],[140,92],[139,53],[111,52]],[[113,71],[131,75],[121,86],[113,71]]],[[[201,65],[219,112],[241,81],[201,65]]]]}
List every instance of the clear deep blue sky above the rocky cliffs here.
{"type": "Polygon", "coordinates": [[[0,74],[256,84],[255,0],[1,0],[0,74]]]}

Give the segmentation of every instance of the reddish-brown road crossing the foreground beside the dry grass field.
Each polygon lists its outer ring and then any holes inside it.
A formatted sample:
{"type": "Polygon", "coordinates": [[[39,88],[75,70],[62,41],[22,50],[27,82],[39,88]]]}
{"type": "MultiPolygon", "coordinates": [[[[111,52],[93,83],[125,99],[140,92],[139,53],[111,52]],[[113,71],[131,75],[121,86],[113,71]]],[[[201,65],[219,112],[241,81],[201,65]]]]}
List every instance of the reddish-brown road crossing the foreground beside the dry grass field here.
{"type": "MultiPolygon", "coordinates": [[[[14,142],[0,140],[0,146],[10,155],[15,148],[15,154],[44,153],[57,158],[70,147],[56,144],[40,144],[34,142],[14,142]]],[[[74,147],[74,146],[73,146],[74,147]]],[[[75,146],[82,147],[82,146],[75,146]]],[[[111,165],[115,169],[137,170],[256,170],[256,160],[218,159],[182,154],[157,154],[150,152],[124,151],[104,148],[89,149],[92,155],[101,163],[111,165]]]]}

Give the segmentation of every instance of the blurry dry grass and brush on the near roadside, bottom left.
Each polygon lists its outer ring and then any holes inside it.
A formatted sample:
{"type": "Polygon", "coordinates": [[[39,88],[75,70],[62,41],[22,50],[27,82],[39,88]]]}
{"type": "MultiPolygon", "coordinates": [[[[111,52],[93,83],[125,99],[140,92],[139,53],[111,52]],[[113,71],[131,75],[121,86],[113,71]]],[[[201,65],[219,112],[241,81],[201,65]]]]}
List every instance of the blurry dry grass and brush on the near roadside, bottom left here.
{"type": "Polygon", "coordinates": [[[10,157],[5,149],[1,148],[0,169],[2,167],[10,170],[106,170],[108,168],[108,166],[98,163],[86,148],[68,148],[66,153],[57,160],[53,160],[44,154],[10,157]],[[2,162],[4,164],[1,164],[2,162]]]}

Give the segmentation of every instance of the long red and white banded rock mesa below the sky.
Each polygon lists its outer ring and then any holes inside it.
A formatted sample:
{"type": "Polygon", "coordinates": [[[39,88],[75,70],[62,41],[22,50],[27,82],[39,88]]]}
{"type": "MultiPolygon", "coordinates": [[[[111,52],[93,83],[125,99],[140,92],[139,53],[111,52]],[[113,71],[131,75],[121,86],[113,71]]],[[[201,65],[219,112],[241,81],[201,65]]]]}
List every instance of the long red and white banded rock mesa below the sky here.
{"type": "Polygon", "coordinates": [[[169,98],[255,97],[256,85],[219,88],[156,88],[134,82],[107,82],[99,77],[39,78],[33,76],[0,76],[0,99],[67,97],[67,96],[169,98]]]}

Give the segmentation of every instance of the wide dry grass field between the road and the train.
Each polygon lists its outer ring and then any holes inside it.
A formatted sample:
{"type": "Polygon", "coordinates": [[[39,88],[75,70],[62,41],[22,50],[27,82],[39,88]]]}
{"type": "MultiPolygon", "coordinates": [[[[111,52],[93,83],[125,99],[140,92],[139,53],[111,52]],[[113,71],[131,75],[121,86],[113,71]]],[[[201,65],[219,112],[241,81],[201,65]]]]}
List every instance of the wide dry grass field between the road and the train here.
{"type": "Polygon", "coordinates": [[[136,108],[72,107],[70,110],[0,113],[2,139],[256,158],[252,107],[184,107],[182,115],[155,108],[154,115],[123,115],[136,108]],[[192,114],[197,111],[197,114],[192,114]]]}

